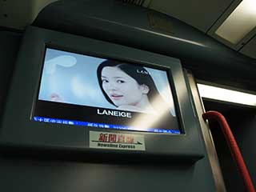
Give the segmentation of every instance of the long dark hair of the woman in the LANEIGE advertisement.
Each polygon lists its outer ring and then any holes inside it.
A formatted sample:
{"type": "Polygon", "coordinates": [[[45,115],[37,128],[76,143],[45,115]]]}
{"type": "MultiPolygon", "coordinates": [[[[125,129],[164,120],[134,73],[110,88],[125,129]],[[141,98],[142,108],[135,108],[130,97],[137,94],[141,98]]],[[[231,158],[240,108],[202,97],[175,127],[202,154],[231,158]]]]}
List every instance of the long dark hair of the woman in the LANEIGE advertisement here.
{"type": "MultiPolygon", "coordinates": [[[[106,60],[102,62],[97,69],[98,83],[104,94],[106,100],[114,105],[114,102],[107,96],[106,92],[102,87],[102,70],[106,66],[116,66],[131,78],[134,78],[139,85],[146,85],[149,87],[149,93],[147,94],[150,104],[155,110],[161,108],[162,105],[166,106],[166,103],[162,100],[161,95],[159,94],[157,87],[154,84],[153,78],[151,78],[150,73],[142,66],[135,66],[133,64],[128,64],[125,62],[118,62],[114,60],[106,60]],[[154,102],[154,99],[158,98],[158,103],[154,102]]],[[[114,105],[115,106],[115,105],[114,105]]]]}

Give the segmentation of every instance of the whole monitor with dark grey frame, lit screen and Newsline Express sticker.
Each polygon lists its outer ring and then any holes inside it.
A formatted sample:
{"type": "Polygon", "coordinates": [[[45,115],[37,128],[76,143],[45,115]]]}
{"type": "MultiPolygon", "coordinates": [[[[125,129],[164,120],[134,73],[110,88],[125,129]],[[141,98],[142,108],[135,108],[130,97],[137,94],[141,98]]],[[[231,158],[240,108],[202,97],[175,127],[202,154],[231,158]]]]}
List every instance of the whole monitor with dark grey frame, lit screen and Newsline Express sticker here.
{"type": "Polygon", "coordinates": [[[197,161],[202,139],[186,81],[178,58],[29,26],[0,146],[197,161]]]}

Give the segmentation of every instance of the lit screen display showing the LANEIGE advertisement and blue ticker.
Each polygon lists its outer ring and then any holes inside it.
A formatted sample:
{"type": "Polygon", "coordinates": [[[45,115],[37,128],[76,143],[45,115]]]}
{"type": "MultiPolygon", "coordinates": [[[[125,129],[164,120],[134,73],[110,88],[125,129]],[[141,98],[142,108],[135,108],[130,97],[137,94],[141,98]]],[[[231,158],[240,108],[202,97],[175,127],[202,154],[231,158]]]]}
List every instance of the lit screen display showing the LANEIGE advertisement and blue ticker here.
{"type": "Polygon", "coordinates": [[[181,134],[166,70],[52,48],[32,120],[181,134]]]}

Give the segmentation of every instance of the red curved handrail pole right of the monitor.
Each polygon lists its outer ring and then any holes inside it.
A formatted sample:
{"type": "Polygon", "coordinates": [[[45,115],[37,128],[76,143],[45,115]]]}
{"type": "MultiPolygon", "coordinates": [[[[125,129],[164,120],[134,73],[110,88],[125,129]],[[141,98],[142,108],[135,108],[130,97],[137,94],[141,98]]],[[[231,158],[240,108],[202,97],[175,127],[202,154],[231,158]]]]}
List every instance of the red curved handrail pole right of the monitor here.
{"type": "Polygon", "coordinates": [[[202,118],[206,121],[206,119],[214,119],[217,120],[219,125],[222,128],[222,133],[226,138],[226,142],[230,147],[231,154],[234,158],[234,162],[236,163],[240,174],[242,175],[242,180],[246,186],[246,191],[255,192],[254,184],[251,181],[250,174],[246,168],[246,163],[242,158],[242,154],[238,148],[238,144],[235,141],[234,135],[230,130],[229,124],[226,122],[226,118],[219,113],[218,111],[208,111],[205,114],[202,114],[202,118]]]}

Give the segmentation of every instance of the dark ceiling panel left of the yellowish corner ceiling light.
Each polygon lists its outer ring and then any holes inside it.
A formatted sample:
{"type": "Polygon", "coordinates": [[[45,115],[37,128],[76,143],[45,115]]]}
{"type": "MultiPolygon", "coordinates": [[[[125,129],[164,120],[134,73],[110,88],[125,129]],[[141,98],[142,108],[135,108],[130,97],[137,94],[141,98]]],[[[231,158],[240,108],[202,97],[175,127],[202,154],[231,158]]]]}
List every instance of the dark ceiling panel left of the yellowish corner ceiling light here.
{"type": "Polygon", "coordinates": [[[152,0],[149,8],[178,18],[206,32],[230,6],[232,0],[152,0]]]}

